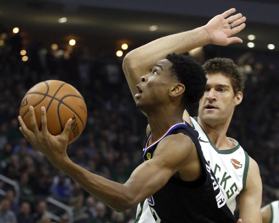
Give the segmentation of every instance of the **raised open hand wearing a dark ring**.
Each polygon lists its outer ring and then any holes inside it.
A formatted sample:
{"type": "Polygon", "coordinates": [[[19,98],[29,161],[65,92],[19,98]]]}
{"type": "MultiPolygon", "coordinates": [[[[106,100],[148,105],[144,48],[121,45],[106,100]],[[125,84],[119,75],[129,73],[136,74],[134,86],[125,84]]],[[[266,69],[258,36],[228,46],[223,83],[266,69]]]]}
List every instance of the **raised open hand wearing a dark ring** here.
{"type": "Polygon", "coordinates": [[[205,26],[203,26],[205,31],[208,33],[210,43],[222,46],[226,46],[231,43],[242,43],[241,38],[233,35],[244,29],[246,17],[242,16],[241,13],[228,17],[235,11],[235,8],[231,8],[221,15],[216,15],[205,26]],[[229,25],[231,22],[234,26],[232,29],[230,29],[229,25]]]}

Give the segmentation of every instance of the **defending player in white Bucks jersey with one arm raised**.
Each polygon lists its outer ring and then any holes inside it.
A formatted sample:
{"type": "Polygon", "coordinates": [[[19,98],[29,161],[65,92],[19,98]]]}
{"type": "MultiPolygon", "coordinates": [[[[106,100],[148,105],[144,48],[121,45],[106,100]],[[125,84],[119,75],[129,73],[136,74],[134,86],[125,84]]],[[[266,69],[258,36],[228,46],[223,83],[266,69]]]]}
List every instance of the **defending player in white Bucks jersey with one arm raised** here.
{"type": "MultiPolygon", "coordinates": [[[[129,52],[124,58],[123,65],[129,71],[125,75],[132,94],[136,92],[133,85],[140,76],[148,73],[153,64],[167,53],[186,52],[209,43],[228,45],[242,42],[238,37],[230,37],[245,27],[246,18],[240,13],[228,17],[234,12],[234,8],[230,9],[215,16],[203,27],[157,39],[129,52]]],[[[238,195],[240,218],[244,223],[257,223],[262,221],[260,213],[262,184],[259,168],[237,141],[226,137],[234,108],[242,101],[243,80],[235,64],[231,64],[231,61],[228,63],[228,60],[219,62],[213,61],[206,67],[207,89],[200,100],[198,119],[190,119],[187,111],[183,118],[189,123],[194,123],[193,126],[198,130],[205,159],[217,175],[232,213],[238,195]],[[223,66],[218,70],[219,62],[223,63],[223,66]],[[222,69],[228,65],[237,73],[222,73],[222,69]]],[[[151,218],[151,211],[145,200],[138,206],[136,222],[147,222],[151,218]]]]}

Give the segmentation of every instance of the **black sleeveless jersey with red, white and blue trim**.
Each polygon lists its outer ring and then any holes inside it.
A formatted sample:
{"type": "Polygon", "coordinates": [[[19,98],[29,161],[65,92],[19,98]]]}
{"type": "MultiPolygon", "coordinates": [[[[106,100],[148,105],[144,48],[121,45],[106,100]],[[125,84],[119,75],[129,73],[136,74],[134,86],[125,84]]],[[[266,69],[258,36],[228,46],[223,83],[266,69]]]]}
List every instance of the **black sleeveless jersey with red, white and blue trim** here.
{"type": "MultiPolygon", "coordinates": [[[[187,122],[171,126],[157,141],[148,145],[146,139],[143,160],[152,159],[158,143],[170,134],[183,133],[189,136],[198,151],[202,163],[202,174],[194,181],[170,178],[164,187],[147,198],[156,223],[233,223],[234,217],[226,204],[224,195],[210,166],[203,157],[198,142],[198,132],[187,122]]],[[[175,148],[169,148],[175,152],[175,148]]]]}

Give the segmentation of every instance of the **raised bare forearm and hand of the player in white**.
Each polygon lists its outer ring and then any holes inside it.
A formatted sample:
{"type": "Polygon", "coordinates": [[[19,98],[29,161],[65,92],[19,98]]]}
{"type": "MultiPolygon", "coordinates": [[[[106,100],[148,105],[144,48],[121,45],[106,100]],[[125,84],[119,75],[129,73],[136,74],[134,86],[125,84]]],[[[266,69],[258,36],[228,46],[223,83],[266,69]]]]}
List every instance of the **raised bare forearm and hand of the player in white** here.
{"type": "Polygon", "coordinates": [[[136,85],[140,83],[141,76],[150,73],[156,62],[169,53],[183,53],[209,43],[241,43],[240,38],[232,36],[244,29],[246,18],[241,13],[230,16],[234,12],[235,8],[231,8],[202,27],[159,38],[129,52],[123,61],[123,71],[133,96],[138,93],[136,85]],[[229,26],[231,22],[235,26],[232,29],[229,26]]]}

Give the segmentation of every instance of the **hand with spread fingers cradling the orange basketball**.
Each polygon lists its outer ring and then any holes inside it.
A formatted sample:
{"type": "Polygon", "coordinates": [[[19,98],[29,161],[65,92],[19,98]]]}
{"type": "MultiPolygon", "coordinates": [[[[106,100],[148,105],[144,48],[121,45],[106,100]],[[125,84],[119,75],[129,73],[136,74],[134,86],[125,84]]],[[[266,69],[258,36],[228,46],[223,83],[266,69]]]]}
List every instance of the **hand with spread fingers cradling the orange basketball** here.
{"type": "Polygon", "coordinates": [[[38,128],[38,124],[35,117],[34,108],[29,107],[31,126],[34,133],[29,130],[21,116],[18,116],[19,130],[24,137],[33,145],[36,150],[42,152],[54,166],[57,166],[60,162],[69,159],[66,149],[69,139],[69,132],[71,130],[72,119],[69,119],[65,125],[63,132],[58,136],[53,136],[47,130],[47,113],[44,106],[41,108],[41,122],[42,130],[38,128]]]}

